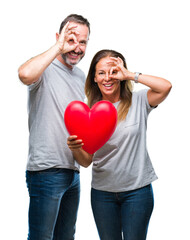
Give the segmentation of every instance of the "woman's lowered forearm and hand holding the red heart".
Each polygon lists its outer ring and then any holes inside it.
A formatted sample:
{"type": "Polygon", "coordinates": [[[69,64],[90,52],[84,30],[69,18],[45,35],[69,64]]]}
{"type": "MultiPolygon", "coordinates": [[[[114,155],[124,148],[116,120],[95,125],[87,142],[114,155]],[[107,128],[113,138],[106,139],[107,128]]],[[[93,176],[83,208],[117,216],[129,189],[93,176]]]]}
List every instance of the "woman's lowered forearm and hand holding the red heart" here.
{"type": "Polygon", "coordinates": [[[68,137],[67,145],[72,151],[73,157],[81,166],[88,167],[92,163],[93,154],[89,154],[82,149],[84,143],[81,139],[77,139],[76,135],[68,137]]]}

